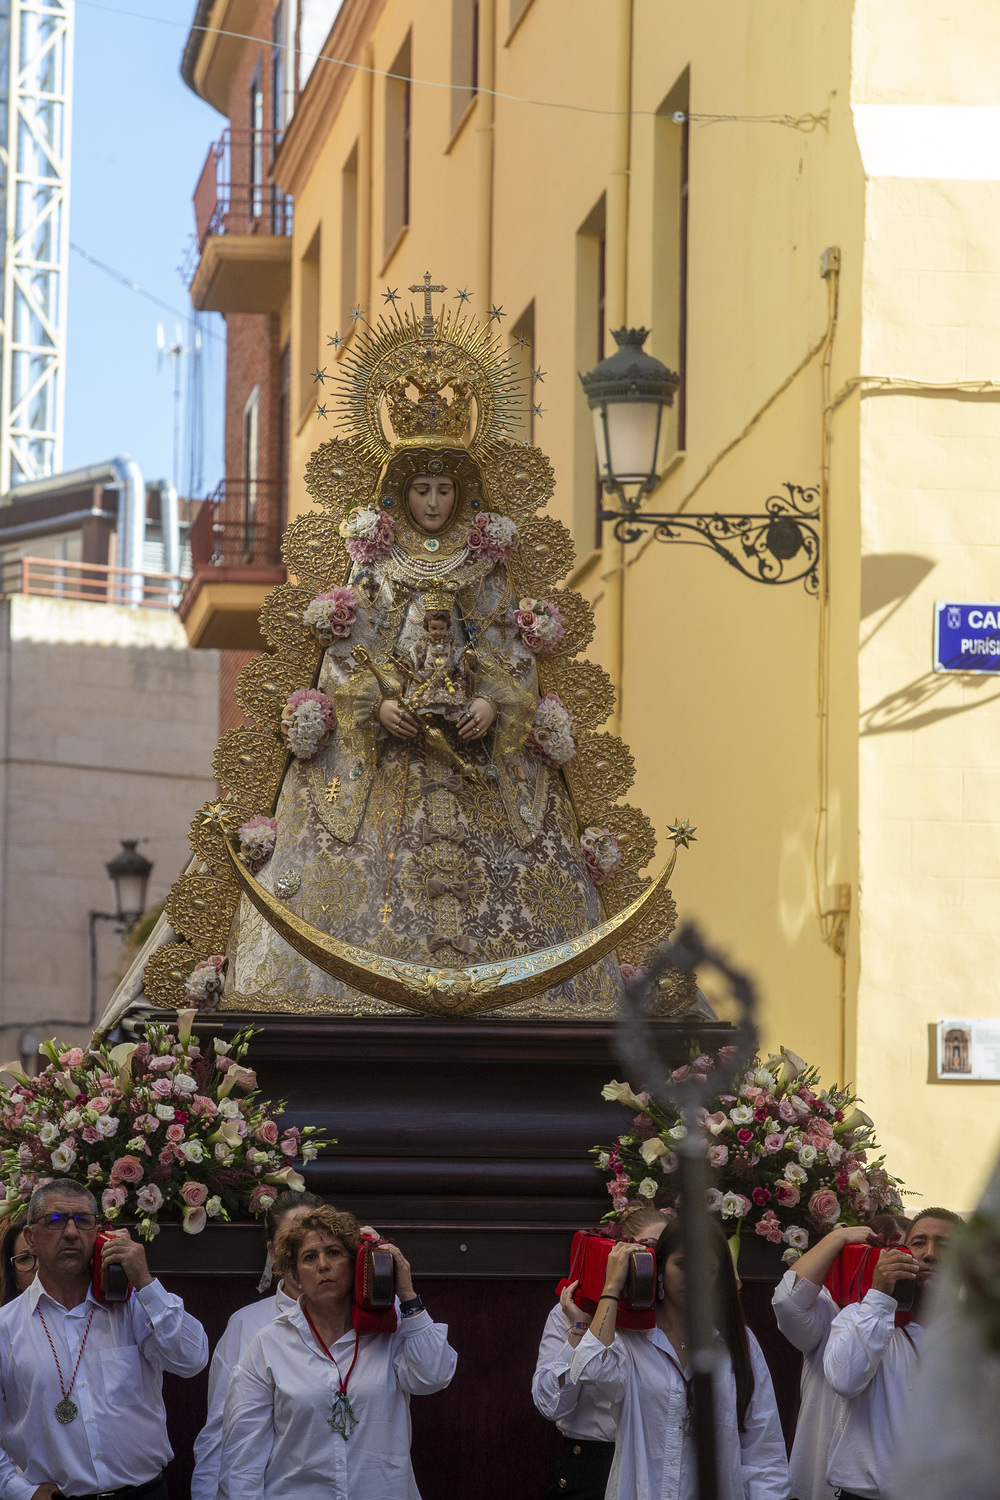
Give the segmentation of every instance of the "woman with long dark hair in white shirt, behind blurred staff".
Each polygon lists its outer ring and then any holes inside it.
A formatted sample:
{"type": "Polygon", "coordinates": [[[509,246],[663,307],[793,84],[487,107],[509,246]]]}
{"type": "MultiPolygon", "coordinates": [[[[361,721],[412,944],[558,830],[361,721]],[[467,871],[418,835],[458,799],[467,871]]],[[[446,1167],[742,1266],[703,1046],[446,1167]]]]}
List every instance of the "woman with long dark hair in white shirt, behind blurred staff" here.
{"type": "MultiPolygon", "coordinates": [[[[789,1464],[771,1376],[739,1305],[726,1238],[711,1227],[723,1329],[717,1341],[715,1434],[720,1500],[787,1500],[789,1464]]],[[[571,1378],[591,1382],[621,1407],[607,1500],[694,1500],[688,1350],[684,1335],[684,1252],[673,1220],[657,1246],[657,1324],[616,1329],[630,1245],[609,1256],[604,1293],[577,1344],[571,1378]]]]}

